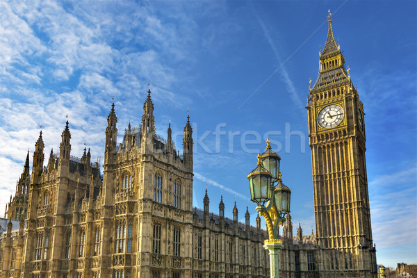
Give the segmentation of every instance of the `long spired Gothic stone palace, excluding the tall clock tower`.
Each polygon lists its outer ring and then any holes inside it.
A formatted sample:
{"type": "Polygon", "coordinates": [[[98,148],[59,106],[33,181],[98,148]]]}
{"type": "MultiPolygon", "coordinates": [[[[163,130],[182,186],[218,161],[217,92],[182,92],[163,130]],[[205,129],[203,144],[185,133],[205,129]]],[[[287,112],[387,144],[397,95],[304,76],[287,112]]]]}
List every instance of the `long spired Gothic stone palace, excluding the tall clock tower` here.
{"type": "MultiPolygon", "coordinates": [[[[143,109],[142,124],[132,129],[129,123],[117,145],[113,104],[103,177],[99,165],[90,162],[90,149],[81,158],[71,156],[68,122],[59,154],[51,150],[44,167],[41,131],[33,154],[27,227],[20,218],[18,231],[10,222],[1,236],[1,277],[269,276],[263,249],[267,234],[259,216],[256,228],[250,226],[249,211],[245,224],[240,223],[235,204],[233,220],[225,218],[222,198],[219,213],[210,213],[207,194],[204,209],[193,208],[189,117],[179,155],[170,126],[166,140],[155,134],[150,90],[143,109]]],[[[16,195],[22,191],[17,189],[16,195]]],[[[16,205],[10,202],[8,211],[16,205]]],[[[307,277],[307,270],[314,270],[313,241],[303,243],[301,235],[295,242],[291,232],[281,253],[283,277],[307,277]]]]}

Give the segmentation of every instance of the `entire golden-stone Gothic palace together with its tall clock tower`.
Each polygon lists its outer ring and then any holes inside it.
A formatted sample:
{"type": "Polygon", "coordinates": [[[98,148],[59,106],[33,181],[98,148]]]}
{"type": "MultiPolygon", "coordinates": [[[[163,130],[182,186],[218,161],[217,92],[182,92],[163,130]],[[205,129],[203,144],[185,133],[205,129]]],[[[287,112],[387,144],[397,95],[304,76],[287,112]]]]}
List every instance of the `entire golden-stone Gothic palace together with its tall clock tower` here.
{"type": "MultiPolygon", "coordinates": [[[[306,106],[313,167],[316,234],[293,236],[286,215],[279,255],[281,277],[377,277],[365,161],[363,104],[352,85],[332,17],[319,77],[306,106]]],[[[268,233],[193,208],[193,129],[187,117],[183,153],[156,136],[151,91],[142,123],[117,144],[113,103],[107,117],[103,172],[90,149],[72,156],[70,124],[59,152],[45,158],[42,131],[29,153],[15,196],[0,220],[0,277],[19,278],[249,278],[270,277],[263,248],[268,233]]],[[[213,202],[213,201],[212,201],[213,202]]],[[[216,205],[217,208],[217,205],[216,205]]]]}

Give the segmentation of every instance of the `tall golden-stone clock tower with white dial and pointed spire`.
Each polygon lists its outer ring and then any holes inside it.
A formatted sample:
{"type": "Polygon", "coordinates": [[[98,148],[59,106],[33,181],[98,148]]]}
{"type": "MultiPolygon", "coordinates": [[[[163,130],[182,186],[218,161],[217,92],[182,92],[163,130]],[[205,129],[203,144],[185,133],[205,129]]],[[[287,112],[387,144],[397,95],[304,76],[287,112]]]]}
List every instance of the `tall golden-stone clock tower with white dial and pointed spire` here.
{"type": "Polygon", "coordinates": [[[377,277],[363,104],[334,40],[330,11],[319,76],[306,108],[320,277],[377,277]]]}

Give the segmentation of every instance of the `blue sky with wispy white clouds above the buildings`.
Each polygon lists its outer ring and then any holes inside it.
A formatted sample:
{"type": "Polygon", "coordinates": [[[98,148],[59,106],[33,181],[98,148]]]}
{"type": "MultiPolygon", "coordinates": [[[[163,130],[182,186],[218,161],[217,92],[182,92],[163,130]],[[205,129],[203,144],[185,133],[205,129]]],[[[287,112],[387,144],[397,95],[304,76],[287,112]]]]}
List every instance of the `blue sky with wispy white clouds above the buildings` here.
{"type": "MultiPolygon", "coordinates": [[[[187,109],[195,142],[194,205],[205,184],[231,217],[270,137],[292,190],[291,214],[314,226],[306,97],[333,30],[365,108],[367,171],[377,262],[417,262],[415,1],[1,1],[0,208],[43,125],[58,151],[65,115],[72,155],[104,156],[115,97],[121,137],[140,124],[151,83],[156,132],[171,120],[181,148],[187,109]]],[[[315,229],[313,227],[313,229],[315,229]]],[[[295,231],[294,231],[295,232],[295,231]]]]}

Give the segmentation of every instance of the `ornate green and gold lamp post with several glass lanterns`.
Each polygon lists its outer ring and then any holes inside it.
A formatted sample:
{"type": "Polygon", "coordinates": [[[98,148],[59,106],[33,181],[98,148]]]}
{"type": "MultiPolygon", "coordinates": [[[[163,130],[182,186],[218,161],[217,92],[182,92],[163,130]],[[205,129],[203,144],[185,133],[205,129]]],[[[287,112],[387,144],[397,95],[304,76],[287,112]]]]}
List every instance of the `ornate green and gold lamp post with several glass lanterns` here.
{"type": "Polygon", "coordinates": [[[256,168],[247,175],[251,201],[256,211],[265,218],[268,239],[263,247],[270,254],[271,278],[279,278],[279,250],[284,247],[278,238],[279,226],[285,222],[290,212],[291,190],[282,183],[279,163],[281,158],[272,151],[270,140],[266,140],[266,151],[258,154],[256,168]]]}

